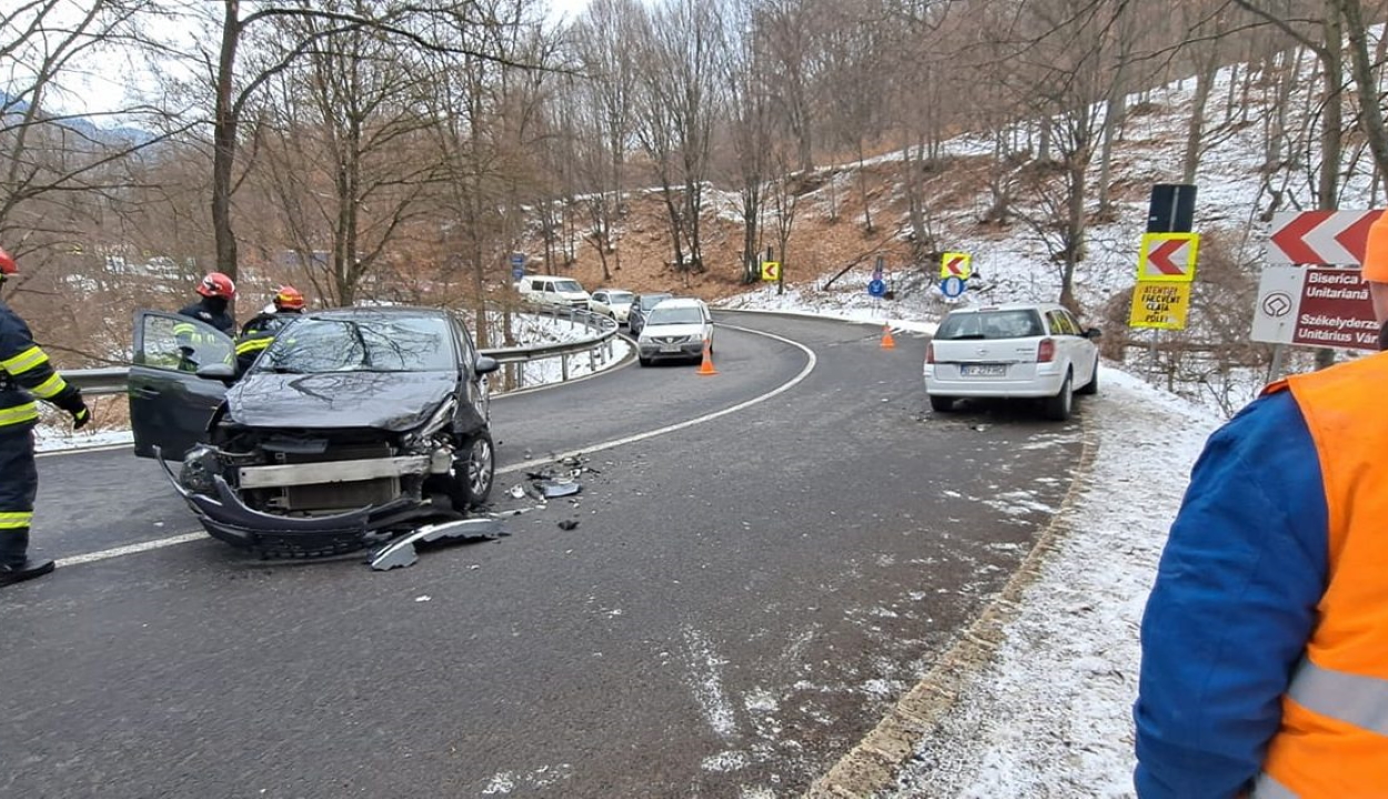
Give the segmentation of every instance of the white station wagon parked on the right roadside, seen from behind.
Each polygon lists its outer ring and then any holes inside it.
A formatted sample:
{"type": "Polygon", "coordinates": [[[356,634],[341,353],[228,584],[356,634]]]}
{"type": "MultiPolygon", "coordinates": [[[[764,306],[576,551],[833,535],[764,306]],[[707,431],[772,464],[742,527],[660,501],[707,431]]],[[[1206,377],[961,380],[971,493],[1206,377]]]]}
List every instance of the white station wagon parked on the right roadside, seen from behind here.
{"type": "Polygon", "coordinates": [[[1070,418],[1074,394],[1099,390],[1099,330],[1062,305],[959,308],[926,345],[926,394],[937,412],[962,397],[1033,397],[1045,416],[1070,418]]]}

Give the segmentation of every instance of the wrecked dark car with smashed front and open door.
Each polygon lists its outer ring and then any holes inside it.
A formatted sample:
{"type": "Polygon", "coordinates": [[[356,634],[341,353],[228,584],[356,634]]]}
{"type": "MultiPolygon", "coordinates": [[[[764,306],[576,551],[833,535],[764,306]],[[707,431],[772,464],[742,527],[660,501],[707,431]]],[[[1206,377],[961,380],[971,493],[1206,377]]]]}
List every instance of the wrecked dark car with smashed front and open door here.
{"type": "Polygon", "coordinates": [[[135,454],[164,465],[215,538],[264,556],[350,552],[466,517],[491,491],[497,362],[447,311],[307,313],[239,379],[212,327],[157,311],[135,325],[135,454]]]}

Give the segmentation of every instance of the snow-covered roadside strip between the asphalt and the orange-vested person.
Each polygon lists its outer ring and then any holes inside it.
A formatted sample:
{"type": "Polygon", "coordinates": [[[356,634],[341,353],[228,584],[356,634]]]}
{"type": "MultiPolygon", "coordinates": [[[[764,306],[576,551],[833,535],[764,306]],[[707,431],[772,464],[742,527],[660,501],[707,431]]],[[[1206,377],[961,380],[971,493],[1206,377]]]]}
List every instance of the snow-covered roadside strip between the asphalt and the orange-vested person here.
{"type": "Polygon", "coordinates": [[[1221,423],[1105,368],[1098,443],[1062,534],[995,658],[960,685],[883,798],[1133,796],[1138,624],[1166,533],[1221,423]]]}

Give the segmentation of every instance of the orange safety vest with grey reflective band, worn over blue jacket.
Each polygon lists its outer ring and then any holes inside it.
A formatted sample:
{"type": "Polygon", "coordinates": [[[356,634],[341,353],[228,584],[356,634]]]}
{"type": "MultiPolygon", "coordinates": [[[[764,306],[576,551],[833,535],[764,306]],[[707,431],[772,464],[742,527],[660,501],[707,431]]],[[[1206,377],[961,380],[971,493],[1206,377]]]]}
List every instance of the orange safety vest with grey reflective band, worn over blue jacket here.
{"type": "Polygon", "coordinates": [[[1316,443],[1330,570],[1253,796],[1388,798],[1388,352],[1283,387],[1316,443]]]}

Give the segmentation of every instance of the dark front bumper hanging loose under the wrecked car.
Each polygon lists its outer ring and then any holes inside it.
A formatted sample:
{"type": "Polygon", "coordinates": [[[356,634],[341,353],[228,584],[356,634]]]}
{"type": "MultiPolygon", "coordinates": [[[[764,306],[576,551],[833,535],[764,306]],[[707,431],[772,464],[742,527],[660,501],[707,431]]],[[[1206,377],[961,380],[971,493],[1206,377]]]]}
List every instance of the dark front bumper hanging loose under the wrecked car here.
{"type": "Polygon", "coordinates": [[[386,541],[408,522],[454,516],[412,498],[400,498],[330,516],[278,516],[247,508],[219,474],[217,495],[189,491],[162,458],[174,490],[183,497],[203,527],[218,541],[250,549],[262,558],[321,558],[355,552],[386,541]]]}

